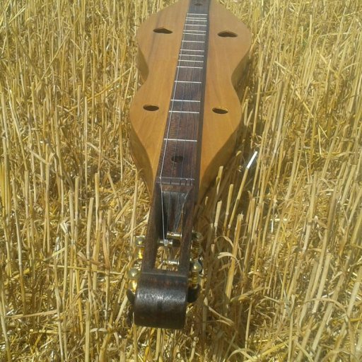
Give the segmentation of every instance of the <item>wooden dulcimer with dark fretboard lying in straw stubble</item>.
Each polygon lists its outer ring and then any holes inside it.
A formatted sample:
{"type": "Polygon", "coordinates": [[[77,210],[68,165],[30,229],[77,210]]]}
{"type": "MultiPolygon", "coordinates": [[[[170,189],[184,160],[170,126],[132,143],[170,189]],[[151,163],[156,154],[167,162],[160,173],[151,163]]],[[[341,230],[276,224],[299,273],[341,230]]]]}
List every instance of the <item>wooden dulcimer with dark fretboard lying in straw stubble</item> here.
{"type": "Polygon", "coordinates": [[[130,144],[151,210],[127,297],[136,325],[180,329],[200,289],[194,207],[235,150],[251,37],[215,0],[180,0],[148,18],[137,41],[144,83],[130,108],[130,144]]]}

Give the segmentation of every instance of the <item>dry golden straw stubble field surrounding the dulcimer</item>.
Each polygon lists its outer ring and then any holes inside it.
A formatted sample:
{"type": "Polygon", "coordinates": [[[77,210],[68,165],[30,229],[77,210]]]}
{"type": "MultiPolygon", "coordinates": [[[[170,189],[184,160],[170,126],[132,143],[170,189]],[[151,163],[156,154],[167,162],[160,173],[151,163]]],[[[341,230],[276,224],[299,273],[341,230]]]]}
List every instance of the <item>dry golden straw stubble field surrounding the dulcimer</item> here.
{"type": "Polygon", "coordinates": [[[129,328],[149,207],[127,140],[134,34],[168,2],[1,1],[0,360],[361,361],[356,0],[225,1],[253,34],[250,141],[200,208],[185,330],[129,328]]]}

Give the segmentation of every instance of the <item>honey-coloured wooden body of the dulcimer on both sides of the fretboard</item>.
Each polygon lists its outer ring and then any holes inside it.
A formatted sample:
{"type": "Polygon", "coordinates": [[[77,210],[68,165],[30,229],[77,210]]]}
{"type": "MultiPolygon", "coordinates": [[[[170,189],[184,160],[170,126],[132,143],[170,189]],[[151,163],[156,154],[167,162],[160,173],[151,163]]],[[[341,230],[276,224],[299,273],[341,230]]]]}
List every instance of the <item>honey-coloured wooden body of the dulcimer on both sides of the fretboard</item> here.
{"type": "MultiPolygon", "coordinates": [[[[139,71],[144,84],[132,102],[130,138],[132,155],[150,193],[158,170],[173,91],[171,80],[175,78],[188,5],[189,1],[180,0],[154,14],[137,34],[139,71]],[[172,33],[168,34],[167,30],[172,33]]],[[[235,149],[235,137],[241,125],[240,100],[235,88],[243,78],[250,48],[250,32],[246,26],[214,0],[209,19],[199,198],[214,180],[218,167],[228,161],[235,149]],[[224,110],[227,112],[223,113],[224,110]]]]}

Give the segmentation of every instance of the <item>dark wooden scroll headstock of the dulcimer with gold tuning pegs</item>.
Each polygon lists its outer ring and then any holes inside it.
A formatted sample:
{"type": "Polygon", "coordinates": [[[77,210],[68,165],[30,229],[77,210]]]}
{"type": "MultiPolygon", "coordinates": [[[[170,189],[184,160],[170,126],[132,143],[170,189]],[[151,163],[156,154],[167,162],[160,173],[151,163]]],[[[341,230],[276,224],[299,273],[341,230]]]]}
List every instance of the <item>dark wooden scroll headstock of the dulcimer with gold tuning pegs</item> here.
{"type": "Polygon", "coordinates": [[[180,329],[185,325],[187,303],[199,294],[202,235],[192,232],[192,186],[177,194],[184,199],[178,221],[175,212],[162,210],[162,194],[156,187],[148,233],[146,238],[136,239],[137,259],[129,273],[127,294],[134,304],[137,325],[180,329]],[[163,230],[163,225],[172,229],[163,230]]]}

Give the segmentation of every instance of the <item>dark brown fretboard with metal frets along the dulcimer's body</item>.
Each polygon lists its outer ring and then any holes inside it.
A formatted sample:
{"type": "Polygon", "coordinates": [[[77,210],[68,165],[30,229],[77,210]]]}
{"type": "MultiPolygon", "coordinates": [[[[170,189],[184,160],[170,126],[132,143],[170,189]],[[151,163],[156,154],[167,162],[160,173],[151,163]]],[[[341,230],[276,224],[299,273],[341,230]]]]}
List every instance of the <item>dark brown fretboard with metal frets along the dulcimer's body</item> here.
{"type": "Polygon", "coordinates": [[[198,187],[208,38],[209,1],[191,0],[158,163],[161,187],[198,187]]]}

